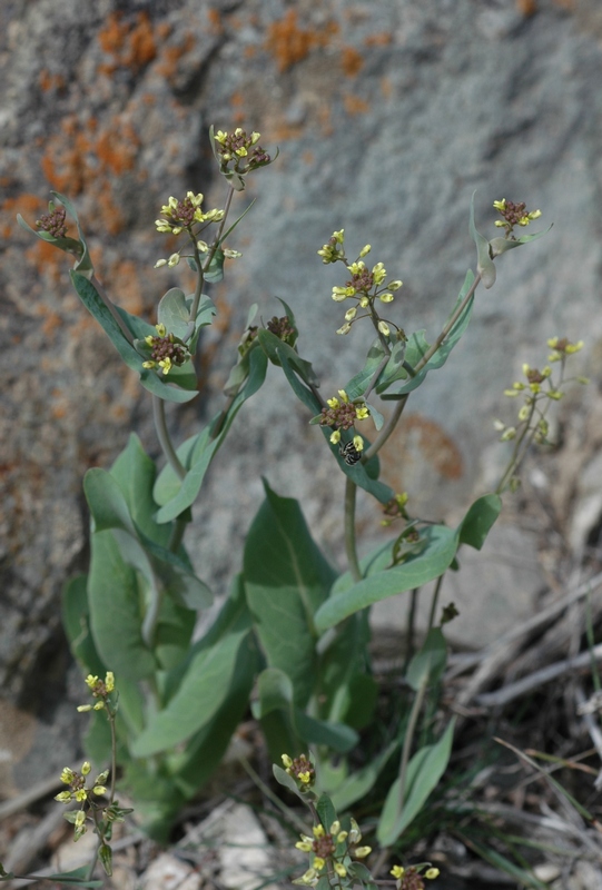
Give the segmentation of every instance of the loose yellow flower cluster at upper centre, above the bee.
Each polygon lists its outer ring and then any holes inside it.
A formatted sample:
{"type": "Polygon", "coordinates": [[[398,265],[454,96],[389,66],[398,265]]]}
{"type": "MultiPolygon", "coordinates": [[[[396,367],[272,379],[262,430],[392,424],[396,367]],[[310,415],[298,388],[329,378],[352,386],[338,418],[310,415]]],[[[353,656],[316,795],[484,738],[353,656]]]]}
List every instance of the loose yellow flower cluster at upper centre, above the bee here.
{"type": "Polygon", "coordinates": [[[347,309],[345,324],[336,333],[348,334],[352,325],[361,318],[372,318],[373,324],[385,337],[391,334],[391,325],[399,332],[399,328],[393,322],[386,322],[378,316],[375,304],[376,300],[385,304],[393,303],[395,299],[393,295],[395,290],[402,287],[403,281],[398,279],[387,281],[387,273],[382,263],[376,263],[372,269],[366,266],[364,257],[372,250],[369,244],[362,248],[354,263],[347,263],[344,243],[345,230],[341,229],[339,231],[334,231],[328,241],[318,250],[323,263],[337,263],[341,260],[345,263],[347,271],[351,273],[351,278],[344,285],[333,287],[332,297],[335,303],[343,303],[346,299],[352,299],[356,303],[355,306],[347,309]]]}

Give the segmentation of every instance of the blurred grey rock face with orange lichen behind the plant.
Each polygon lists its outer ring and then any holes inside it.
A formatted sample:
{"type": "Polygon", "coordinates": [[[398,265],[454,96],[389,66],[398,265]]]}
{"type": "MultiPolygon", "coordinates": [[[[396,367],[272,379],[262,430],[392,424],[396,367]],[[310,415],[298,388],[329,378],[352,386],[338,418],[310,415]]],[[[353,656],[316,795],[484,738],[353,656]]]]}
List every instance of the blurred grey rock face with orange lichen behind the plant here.
{"type": "MultiPolygon", "coordinates": [[[[383,475],[408,492],[413,513],[457,521],[473,496],[495,486],[507,459],[493,427],[515,413],[503,389],[524,362],[545,364],[547,338],[584,339],[574,368],[591,385],[559,406],[555,452],[532,463],[523,492],[506,498],[485,563],[453,591],[461,612],[467,596],[458,645],[531,614],[559,551],[595,550],[596,0],[4,0],[0,70],[4,793],[24,775],[24,752],[30,764],[43,752],[47,774],[55,758],[67,762],[76,732],[72,700],[81,689],[68,670],[60,589],[87,564],[82,475],[110,466],[131,429],[159,457],[150,397],[79,303],[69,258],[16,224],[20,212],[33,225],[51,189],[76,204],[114,300],[154,323],[162,294],[186,280],[184,264],[154,269],[171,253],[155,228],[161,205],[188,189],[203,191],[208,207],[225,199],[210,125],[258,130],[268,151],[279,147],[276,162],[238,196],[235,210],[256,204],[227,245],[243,257],[207,289],[219,315],[200,344],[200,395],[168,409],[178,442],[219,408],[253,303],[265,322],[280,314],[275,297],[292,306],[299,352],[325,396],[361,367],[369,330],[336,336],[343,312],[330,289],[339,273],[316,254],[334,229],[345,228],[349,256],[369,243],[371,260],[403,279],[392,317],[407,333],[425,328],[432,342],[475,266],[473,191],[487,237],[496,234],[494,200],[541,208],[530,233],[552,230],[497,261],[497,281],[478,290],[471,327],[444,372],[409,399],[383,475]]],[[[239,567],[260,474],[280,495],[302,498],[316,538],[343,567],[343,479],[308,419],[274,368],[238,415],[187,536],[216,593],[239,567]]],[[[362,498],[366,543],[383,535],[381,518],[362,498]]],[[[399,609],[389,601],[376,624],[403,623],[399,609]]]]}

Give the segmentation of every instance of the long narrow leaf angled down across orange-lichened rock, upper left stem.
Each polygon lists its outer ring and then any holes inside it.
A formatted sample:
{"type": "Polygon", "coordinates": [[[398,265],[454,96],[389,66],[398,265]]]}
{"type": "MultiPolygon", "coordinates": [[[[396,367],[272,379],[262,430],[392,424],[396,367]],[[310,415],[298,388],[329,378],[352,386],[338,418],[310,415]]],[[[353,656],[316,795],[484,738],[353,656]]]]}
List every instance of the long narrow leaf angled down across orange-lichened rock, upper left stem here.
{"type": "Polygon", "coordinates": [[[71,271],[71,281],[79,298],[88,312],[96,318],[105,334],[107,334],[122,360],[129,368],[139,374],[140,383],[146,389],[159,396],[159,398],[169,402],[189,402],[195,397],[196,392],[188,392],[171,386],[165,375],[159,376],[151,368],[142,367],[142,356],[136,352],[132,344],[125,337],[124,332],[110,314],[105,301],[98,295],[91,281],[83,275],[75,271],[71,271]]]}

